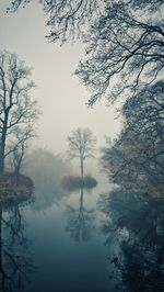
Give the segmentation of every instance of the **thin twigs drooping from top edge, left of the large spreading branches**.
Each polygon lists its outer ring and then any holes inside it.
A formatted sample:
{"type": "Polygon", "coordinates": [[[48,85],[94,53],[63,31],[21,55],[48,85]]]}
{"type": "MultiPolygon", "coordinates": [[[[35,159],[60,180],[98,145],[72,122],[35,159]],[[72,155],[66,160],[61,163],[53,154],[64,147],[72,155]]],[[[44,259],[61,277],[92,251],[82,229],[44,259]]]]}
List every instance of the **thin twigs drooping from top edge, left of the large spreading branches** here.
{"type": "MultiPolygon", "coordinates": [[[[14,0],[8,11],[16,11],[34,0],[14,0]]],[[[47,35],[50,42],[63,44],[68,40],[82,37],[92,20],[99,13],[104,0],[40,0],[47,15],[46,25],[50,29],[47,35]]]]}

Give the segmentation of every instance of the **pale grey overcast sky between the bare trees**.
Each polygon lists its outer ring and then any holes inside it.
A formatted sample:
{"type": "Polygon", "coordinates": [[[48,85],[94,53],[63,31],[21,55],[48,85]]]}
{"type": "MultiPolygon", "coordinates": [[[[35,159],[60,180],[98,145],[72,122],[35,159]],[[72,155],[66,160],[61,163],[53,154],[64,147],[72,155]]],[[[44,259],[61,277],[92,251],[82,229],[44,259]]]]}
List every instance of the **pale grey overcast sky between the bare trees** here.
{"type": "Polygon", "coordinates": [[[113,108],[97,103],[87,109],[90,92],[72,76],[79,60],[84,56],[81,44],[59,47],[45,38],[45,16],[38,1],[16,13],[5,13],[8,0],[0,1],[1,49],[16,53],[33,67],[33,80],[37,88],[33,96],[38,100],[43,115],[38,125],[38,147],[55,153],[67,149],[66,137],[75,127],[90,127],[104,145],[104,135],[114,137],[119,121],[113,108]]]}

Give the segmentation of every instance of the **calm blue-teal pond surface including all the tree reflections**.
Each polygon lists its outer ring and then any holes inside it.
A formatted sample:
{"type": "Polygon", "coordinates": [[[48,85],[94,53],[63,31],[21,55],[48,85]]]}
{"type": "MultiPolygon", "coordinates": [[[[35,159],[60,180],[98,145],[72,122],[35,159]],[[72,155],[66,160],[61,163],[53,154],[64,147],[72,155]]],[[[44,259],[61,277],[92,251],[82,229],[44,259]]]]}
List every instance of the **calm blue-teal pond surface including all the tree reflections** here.
{"type": "Polygon", "coordinates": [[[108,190],[1,207],[0,291],[164,291],[163,202],[108,190]]]}

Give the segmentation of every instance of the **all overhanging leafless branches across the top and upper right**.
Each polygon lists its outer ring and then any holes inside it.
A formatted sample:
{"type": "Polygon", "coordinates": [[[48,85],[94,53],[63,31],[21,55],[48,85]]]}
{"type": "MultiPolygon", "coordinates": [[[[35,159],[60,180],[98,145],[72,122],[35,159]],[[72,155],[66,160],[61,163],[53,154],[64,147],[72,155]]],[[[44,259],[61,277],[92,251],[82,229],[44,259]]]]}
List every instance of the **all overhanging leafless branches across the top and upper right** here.
{"type": "MultiPolygon", "coordinates": [[[[10,11],[32,0],[14,0],[10,11]]],[[[163,0],[43,0],[49,40],[82,36],[86,59],[77,75],[91,89],[89,104],[103,96],[114,101],[163,78],[163,0]],[[89,31],[89,34],[86,33],[89,31]]]]}

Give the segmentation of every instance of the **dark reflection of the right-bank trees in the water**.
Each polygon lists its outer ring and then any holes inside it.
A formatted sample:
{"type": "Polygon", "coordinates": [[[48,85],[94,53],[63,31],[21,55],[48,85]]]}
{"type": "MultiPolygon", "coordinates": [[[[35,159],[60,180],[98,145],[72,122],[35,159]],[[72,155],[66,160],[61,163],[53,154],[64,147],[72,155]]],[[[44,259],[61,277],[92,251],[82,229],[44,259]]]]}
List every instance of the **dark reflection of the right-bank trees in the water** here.
{"type": "Polygon", "coordinates": [[[109,261],[118,291],[164,291],[164,200],[118,190],[98,205],[106,244],[115,245],[109,261]]]}

